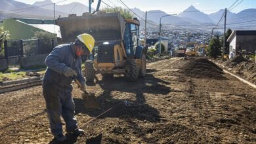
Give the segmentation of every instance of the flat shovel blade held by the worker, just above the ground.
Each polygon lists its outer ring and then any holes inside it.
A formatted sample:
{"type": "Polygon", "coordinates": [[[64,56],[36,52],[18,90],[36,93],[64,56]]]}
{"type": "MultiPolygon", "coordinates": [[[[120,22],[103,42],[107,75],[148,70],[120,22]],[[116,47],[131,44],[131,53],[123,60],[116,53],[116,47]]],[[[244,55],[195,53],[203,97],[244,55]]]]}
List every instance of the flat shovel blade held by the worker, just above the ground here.
{"type": "Polygon", "coordinates": [[[95,98],[95,94],[83,93],[82,97],[83,97],[83,104],[85,105],[85,109],[98,109],[100,107],[100,104],[98,103],[97,99],[95,98]]]}

